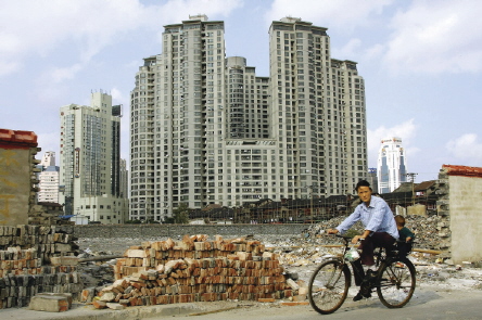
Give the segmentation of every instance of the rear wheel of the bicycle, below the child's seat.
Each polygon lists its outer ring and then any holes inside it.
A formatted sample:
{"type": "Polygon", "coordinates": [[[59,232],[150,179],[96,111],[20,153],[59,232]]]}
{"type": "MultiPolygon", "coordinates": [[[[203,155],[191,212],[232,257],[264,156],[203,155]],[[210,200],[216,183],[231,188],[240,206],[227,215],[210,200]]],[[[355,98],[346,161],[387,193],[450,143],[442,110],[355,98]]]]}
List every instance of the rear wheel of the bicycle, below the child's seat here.
{"type": "Polygon", "coordinates": [[[377,294],[388,308],[402,308],[414,295],[415,267],[406,258],[389,260],[380,271],[377,294]]]}

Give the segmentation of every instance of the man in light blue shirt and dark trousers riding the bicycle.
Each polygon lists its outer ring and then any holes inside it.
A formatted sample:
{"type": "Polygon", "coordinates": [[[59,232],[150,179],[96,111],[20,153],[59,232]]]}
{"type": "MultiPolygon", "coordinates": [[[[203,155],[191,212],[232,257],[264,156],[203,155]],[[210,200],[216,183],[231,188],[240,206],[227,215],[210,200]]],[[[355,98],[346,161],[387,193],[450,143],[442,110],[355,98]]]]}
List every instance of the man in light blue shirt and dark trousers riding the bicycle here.
{"type": "Polygon", "coordinates": [[[356,244],[360,241],[358,246],[362,249],[360,260],[353,263],[354,276],[356,285],[360,285],[360,291],[353,298],[355,302],[363,297],[370,297],[370,291],[364,287],[363,279],[365,282],[376,278],[376,266],[373,249],[376,247],[385,247],[390,249],[398,239],[398,231],[396,229],[396,222],[393,217],[393,213],[390,209],[386,202],[379,196],[371,196],[372,190],[370,183],[366,180],[360,180],[355,188],[362,203],[355,208],[343,222],[334,229],[329,229],[328,234],[341,233],[344,234],[356,221],[362,221],[365,231],[362,235],[356,235],[352,239],[352,243],[356,244]],[[365,277],[362,264],[368,267],[367,276],[365,277]]]}

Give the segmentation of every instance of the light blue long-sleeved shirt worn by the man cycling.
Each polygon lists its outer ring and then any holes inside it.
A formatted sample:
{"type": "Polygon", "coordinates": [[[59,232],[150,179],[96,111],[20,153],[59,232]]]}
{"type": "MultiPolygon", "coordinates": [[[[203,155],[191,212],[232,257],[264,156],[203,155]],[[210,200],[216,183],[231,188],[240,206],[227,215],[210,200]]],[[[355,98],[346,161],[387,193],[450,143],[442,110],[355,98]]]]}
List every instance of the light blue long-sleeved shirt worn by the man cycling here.
{"type": "Polygon", "coordinates": [[[353,214],[337,227],[337,230],[343,234],[358,220],[362,221],[365,230],[386,232],[398,239],[398,230],[393,213],[386,202],[379,196],[371,196],[369,206],[366,206],[364,202],[360,203],[353,214]]]}

